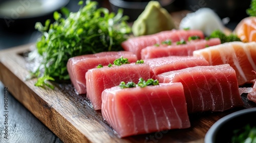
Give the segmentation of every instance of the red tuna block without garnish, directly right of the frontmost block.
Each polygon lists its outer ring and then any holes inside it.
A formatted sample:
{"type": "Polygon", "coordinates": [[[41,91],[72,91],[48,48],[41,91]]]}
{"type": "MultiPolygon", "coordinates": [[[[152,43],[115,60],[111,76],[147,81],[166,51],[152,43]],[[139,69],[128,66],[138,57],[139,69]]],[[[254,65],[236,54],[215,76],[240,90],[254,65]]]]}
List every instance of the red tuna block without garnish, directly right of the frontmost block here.
{"type": "Polygon", "coordinates": [[[236,71],[229,64],[188,67],[160,74],[156,79],[182,83],[188,113],[243,106],[236,71]]]}

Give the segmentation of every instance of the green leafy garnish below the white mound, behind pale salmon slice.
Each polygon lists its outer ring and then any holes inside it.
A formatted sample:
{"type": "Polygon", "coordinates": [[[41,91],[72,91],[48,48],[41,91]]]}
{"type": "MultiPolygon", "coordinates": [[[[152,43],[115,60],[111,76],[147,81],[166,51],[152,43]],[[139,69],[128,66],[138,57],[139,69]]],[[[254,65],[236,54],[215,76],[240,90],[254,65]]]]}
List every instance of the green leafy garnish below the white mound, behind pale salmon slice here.
{"type": "Polygon", "coordinates": [[[226,35],[225,33],[221,32],[219,30],[213,31],[209,37],[206,37],[206,39],[209,39],[209,38],[220,38],[221,43],[232,42],[232,41],[241,41],[241,39],[236,34],[226,35]]]}

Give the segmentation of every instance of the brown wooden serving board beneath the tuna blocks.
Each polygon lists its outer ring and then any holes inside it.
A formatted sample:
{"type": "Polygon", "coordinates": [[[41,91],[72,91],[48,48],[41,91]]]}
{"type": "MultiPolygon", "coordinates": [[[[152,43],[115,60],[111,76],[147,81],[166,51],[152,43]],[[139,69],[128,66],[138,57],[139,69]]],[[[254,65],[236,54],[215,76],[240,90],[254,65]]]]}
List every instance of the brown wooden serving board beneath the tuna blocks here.
{"type": "MultiPolygon", "coordinates": [[[[22,45],[0,52],[0,80],[9,92],[64,142],[204,142],[205,133],[219,118],[244,108],[256,107],[246,97],[245,106],[225,112],[190,114],[191,127],[119,138],[95,111],[85,95],[77,95],[70,83],[56,83],[52,89],[34,86],[36,79],[25,80],[29,64],[22,45]]],[[[33,46],[32,46],[33,47],[33,46]]]]}

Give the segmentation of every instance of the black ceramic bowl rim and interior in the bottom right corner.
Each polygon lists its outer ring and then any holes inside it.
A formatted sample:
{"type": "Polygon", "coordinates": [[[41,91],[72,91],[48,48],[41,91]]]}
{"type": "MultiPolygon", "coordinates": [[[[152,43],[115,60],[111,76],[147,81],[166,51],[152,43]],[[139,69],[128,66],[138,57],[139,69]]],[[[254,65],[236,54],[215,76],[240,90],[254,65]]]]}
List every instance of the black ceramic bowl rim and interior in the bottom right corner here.
{"type": "Polygon", "coordinates": [[[207,131],[206,143],[231,142],[233,131],[249,124],[256,127],[256,108],[248,108],[222,117],[207,131]]]}

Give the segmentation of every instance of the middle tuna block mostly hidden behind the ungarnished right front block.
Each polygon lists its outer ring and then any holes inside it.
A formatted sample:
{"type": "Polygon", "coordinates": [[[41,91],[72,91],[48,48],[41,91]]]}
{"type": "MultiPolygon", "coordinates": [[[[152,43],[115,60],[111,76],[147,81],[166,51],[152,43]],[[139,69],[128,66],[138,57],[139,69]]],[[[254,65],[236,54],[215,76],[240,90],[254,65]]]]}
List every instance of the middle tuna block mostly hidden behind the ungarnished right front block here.
{"type": "Polygon", "coordinates": [[[151,78],[155,79],[157,75],[179,70],[187,67],[209,65],[202,57],[193,56],[168,56],[161,58],[145,59],[144,63],[150,65],[151,78]]]}

